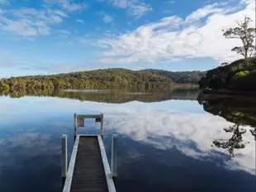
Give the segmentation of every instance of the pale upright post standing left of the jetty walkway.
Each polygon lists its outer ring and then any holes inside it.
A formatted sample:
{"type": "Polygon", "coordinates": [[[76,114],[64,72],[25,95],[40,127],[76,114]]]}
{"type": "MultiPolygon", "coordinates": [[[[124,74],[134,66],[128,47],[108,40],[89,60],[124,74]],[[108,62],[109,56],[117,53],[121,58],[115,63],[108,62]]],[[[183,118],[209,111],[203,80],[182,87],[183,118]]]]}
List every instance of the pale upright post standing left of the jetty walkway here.
{"type": "Polygon", "coordinates": [[[68,170],[68,136],[62,135],[61,138],[61,176],[66,178],[68,170]]]}

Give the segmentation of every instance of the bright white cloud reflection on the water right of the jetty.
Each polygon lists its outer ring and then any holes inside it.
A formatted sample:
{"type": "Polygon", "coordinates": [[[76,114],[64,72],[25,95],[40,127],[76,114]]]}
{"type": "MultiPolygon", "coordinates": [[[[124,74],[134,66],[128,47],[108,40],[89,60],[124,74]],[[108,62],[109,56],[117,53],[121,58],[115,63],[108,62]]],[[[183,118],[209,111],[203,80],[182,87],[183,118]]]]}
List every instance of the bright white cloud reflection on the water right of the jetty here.
{"type": "Polygon", "coordinates": [[[222,150],[211,148],[211,143],[216,138],[227,138],[225,133],[220,132],[223,126],[231,125],[225,119],[208,114],[192,115],[173,110],[151,110],[144,114],[140,112],[132,110],[130,114],[119,115],[118,119],[115,116],[108,116],[107,128],[115,129],[121,135],[127,135],[154,148],[176,148],[197,160],[217,163],[216,159],[219,159],[223,161],[222,166],[230,170],[255,173],[255,143],[249,134],[244,135],[244,141],[248,143],[247,148],[240,151],[239,156],[234,157],[232,161],[225,161],[225,158],[222,158],[222,150]]]}

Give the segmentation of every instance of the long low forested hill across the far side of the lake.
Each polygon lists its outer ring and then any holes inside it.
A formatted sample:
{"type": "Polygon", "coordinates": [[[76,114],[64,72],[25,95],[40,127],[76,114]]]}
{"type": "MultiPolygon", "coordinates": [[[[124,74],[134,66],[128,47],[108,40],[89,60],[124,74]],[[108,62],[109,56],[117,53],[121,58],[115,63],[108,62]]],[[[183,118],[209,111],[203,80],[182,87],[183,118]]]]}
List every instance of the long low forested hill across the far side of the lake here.
{"type": "Polygon", "coordinates": [[[201,72],[164,70],[132,71],[125,68],[98,69],[47,76],[11,77],[0,80],[0,90],[77,88],[77,89],[168,89],[195,86],[201,72]]]}

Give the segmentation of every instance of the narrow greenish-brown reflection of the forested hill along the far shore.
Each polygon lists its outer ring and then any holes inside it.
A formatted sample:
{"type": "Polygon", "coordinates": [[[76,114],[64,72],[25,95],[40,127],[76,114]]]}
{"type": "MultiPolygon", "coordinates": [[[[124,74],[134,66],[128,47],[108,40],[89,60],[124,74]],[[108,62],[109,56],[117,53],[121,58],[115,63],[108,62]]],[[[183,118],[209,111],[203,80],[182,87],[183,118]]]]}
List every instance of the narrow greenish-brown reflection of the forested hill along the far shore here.
{"type": "Polygon", "coordinates": [[[154,91],[154,92],[133,92],[118,90],[22,90],[12,92],[0,92],[0,96],[10,96],[11,98],[20,98],[22,96],[54,96],[60,98],[69,98],[79,101],[97,101],[106,103],[126,103],[130,101],[156,102],[168,101],[171,99],[196,100],[198,90],[173,90],[173,91],[154,91]]]}

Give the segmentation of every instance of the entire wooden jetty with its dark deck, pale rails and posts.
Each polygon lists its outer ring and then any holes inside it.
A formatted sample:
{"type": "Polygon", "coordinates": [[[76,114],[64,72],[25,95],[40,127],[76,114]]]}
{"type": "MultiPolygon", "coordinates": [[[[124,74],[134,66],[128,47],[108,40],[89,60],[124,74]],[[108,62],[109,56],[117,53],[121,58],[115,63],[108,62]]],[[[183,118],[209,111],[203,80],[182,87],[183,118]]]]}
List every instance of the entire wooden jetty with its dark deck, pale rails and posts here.
{"type": "Polygon", "coordinates": [[[102,142],[103,115],[74,114],[73,152],[67,171],[67,135],[62,136],[63,192],[116,192],[113,177],[117,171],[117,140],[112,137],[111,169],[102,142]],[[101,123],[101,133],[78,134],[78,127],[84,126],[84,119],[96,119],[101,123]]]}

